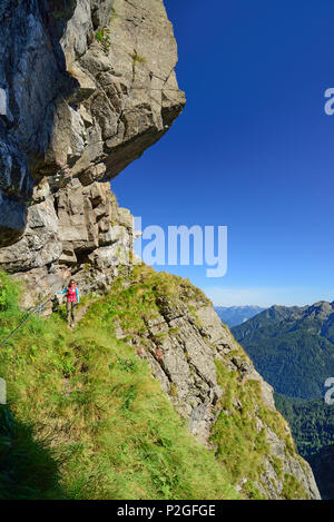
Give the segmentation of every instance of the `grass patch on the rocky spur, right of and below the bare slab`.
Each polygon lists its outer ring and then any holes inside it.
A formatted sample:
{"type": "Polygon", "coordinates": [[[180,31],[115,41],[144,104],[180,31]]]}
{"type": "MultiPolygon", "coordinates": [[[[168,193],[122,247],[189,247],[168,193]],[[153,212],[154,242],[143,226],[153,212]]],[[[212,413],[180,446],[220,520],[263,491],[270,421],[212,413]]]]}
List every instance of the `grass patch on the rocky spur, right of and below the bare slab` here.
{"type": "MultiPolygon", "coordinates": [[[[265,471],[263,459],[271,462],[279,481],[283,481],[284,466],[282,460],[272,454],[265,429],[257,426],[256,417],[285,442],[289,455],[297,457],[293,439],[286,433],[284,418],[264,405],[258,381],[243,382],[238,372],[229,371],[223,361],[216,361],[216,367],[217,381],[223,388],[222,412],[212,434],[216,457],[232,474],[234,483],[247,479],[243,491],[248,498],[261,499],[263,493],[256,484],[266,491],[262,481],[265,471]]],[[[291,479],[285,477],[284,484],[286,499],[296,499],[298,494],[299,499],[307,498],[297,480],[292,485],[291,479]]]]}

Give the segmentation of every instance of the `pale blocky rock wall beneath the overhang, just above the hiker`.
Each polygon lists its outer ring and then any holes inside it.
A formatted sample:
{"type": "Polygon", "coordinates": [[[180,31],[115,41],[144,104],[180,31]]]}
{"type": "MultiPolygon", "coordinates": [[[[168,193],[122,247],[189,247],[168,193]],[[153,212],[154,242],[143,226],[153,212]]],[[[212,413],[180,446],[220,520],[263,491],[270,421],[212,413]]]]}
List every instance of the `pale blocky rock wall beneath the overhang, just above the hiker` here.
{"type": "Polygon", "coordinates": [[[23,307],[59,292],[70,276],[81,294],[101,294],[119,266],[129,268],[134,239],[132,216],[109,183],[71,179],[56,194],[46,183],[35,189],[23,237],[0,249],[0,266],[24,283],[23,307]]]}

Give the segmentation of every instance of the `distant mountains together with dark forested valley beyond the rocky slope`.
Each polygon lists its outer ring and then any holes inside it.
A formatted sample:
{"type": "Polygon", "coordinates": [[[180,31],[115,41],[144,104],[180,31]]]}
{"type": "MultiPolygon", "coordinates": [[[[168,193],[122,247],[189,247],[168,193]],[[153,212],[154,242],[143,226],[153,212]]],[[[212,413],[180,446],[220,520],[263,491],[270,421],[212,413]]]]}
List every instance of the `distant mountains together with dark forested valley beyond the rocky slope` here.
{"type": "Polygon", "coordinates": [[[272,306],[232,332],[274,386],[276,407],[323,499],[334,499],[334,406],[323,398],[325,381],[334,377],[334,303],[272,306]]]}

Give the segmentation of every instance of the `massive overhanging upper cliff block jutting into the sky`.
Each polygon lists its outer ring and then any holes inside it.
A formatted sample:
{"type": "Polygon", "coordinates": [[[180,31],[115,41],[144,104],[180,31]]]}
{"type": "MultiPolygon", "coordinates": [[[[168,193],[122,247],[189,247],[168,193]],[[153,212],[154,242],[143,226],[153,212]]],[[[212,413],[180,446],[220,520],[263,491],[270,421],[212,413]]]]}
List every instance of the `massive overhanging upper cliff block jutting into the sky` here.
{"type": "Polygon", "coordinates": [[[4,246],[23,233],[45,176],[52,193],[71,177],[82,187],[111,179],[168,130],[185,99],[161,0],[3,0],[0,28],[4,246]]]}

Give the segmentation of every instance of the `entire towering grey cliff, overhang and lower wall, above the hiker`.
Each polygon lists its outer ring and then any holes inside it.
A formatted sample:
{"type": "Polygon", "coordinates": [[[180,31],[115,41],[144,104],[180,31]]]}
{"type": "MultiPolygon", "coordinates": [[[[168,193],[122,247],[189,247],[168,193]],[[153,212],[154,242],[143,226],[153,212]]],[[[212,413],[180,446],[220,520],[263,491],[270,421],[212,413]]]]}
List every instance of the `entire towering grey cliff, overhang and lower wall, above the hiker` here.
{"type": "Polygon", "coordinates": [[[131,235],[108,180],[185,105],[164,3],[4,0],[0,28],[0,267],[52,290],[89,263],[106,287],[131,235]]]}

